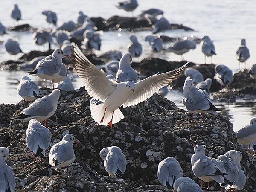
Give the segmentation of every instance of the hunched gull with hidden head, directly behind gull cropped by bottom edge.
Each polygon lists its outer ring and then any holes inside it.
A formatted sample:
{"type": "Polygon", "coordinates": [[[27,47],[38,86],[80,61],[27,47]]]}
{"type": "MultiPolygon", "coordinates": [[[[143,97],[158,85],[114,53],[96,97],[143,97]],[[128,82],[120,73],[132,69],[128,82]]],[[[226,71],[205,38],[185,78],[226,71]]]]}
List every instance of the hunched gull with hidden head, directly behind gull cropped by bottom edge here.
{"type": "Polygon", "coordinates": [[[163,186],[172,187],[175,180],[183,177],[184,173],[180,163],[173,157],[167,157],[158,164],[157,178],[163,186]]]}

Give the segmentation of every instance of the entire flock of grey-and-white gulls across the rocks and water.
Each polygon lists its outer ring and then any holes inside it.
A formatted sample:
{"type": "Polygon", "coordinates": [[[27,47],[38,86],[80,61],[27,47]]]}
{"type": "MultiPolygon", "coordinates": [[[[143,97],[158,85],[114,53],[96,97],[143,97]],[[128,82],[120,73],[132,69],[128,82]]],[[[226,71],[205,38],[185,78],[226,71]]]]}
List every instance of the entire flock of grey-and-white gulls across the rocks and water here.
{"type": "MultiPolygon", "coordinates": [[[[119,9],[132,12],[138,6],[137,0],[128,0],[116,5],[119,9]]],[[[57,25],[58,17],[50,10],[42,12],[46,16],[49,24],[57,25]]],[[[15,21],[21,20],[21,12],[17,4],[11,12],[11,17],[15,21]]],[[[157,34],[160,31],[168,30],[170,23],[163,17],[163,11],[159,9],[149,9],[144,11],[137,20],[148,20],[153,24],[152,33],[145,37],[153,52],[163,50],[163,39],[157,34]]],[[[29,107],[23,109],[20,114],[10,117],[12,120],[27,120],[26,146],[33,152],[33,162],[44,160],[51,165],[52,169],[59,170],[67,167],[76,159],[73,144],[80,143],[73,134],[63,133],[63,139],[55,143],[50,148],[49,157],[46,156],[51,143],[50,128],[47,127],[46,120],[57,110],[58,100],[61,90],[74,90],[72,81],[67,75],[67,67],[62,63],[62,58],[67,57],[75,66],[77,75],[84,83],[87,93],[92,97],[90,101],[91,116],[99,125],[113,127],[113,124],[124,118],[120,107],[123,108],[137,105],[150,98],[154,93],[160,93],[161,89],[172,84],[183,74],[186,80],[183,86],[182,102],[186,109],[193,114],[201,113],[204,122],[204,113],[218,114],[220,109],[216,108],[209,97],[212,79],[204,81],[203,75],[193,68],[188,68],[188,63],[183,66],[161,74],[154,74],[143,80],[138,79],[137,72],[131,67],[132,59],[142,54],[142,45],[135,35],[130,36],[131,44],[128,45],[128,52],[122,55],[120,61],[110,61],[105,65],[105,70],[100,70],[83,54],[80,48],[70,43],[70,38],[81,41],[81,48],[96,49],[101,48],[101,33],[96,32],[93,21],[83,12],[79,12],[77,23],[73,21],[65,22],[52,34],[49,31],[38,29],[34,34],[35,44],[51,44],[53,37],[60,49],[55,49],[52,55],[39,58],[30,64],[33,70],[27,72],[29,75],[38,76],[44,81],[52,81],[52,92],[40,98],[38,85],[28,76],[21,78],[18,86],[18,94],[23,101],[33,101],[29,107]],[[54,83],[58,82],[58,88],[54,88],[54,83]],[[40,122],[44,122],[41,125],[40,122]],[[36,160],[39,157],[39,160],[36,160]]],[[[0,35],[6,34],[5,27],[0,23],[0,35]]],[[[4,44],[6,51],[11,55],[22,52],[17,41],[8,39],[4,44]]],[[[190,49],[196,48],[196,42],[188,39],[175,42],[166,49],[181,55],[190,49]]],[[[216,55],[215,47],[209,36],[204,36],[201,41],[201,49],[206,57],[216,55]]],[[[237,60],[244,62],[250,57],[249,49],[246,47],[245,39],[241,40],[241,46],[236,51],[237,60]]],[[[206,61],[205,61],[206,63],[206,61]]],[[[215,77],[221,86],[229,86],[233,81],[232,71],[225,65],[215,67],[215,77]]],[[[256,79],[256,65],[252,66],[249,74],[256,79]]],[[[167,88],[166,88],[167,89],[167,88]]],[[[167,89],[168,91],[168,89],[167,89]]],[[[248,125],[237,132],[237,139],[240,144],[250,145],[256,141],[256,117],[248,125]]],[[[241,190],[246,183],[246,175],[241,168],[242,154],[240,151],[230,150],[220,155],[217,159],[207,157],[203,145],[195,145],[194,154],[191,157],[192,171],[195,177],[201,180],[201,186],[189,177],[183,177],[184,172],[180,163],[174,157],[167,157],[158,164],[157,178],[165,187],[170,187],[175,192],[202,192],[204,182],[215,181],[221,188],[226,190],[241,190]]],[[[0,192],[13,192],[15,190],[15,176],[12,168],[6,164],[9,157],[9,150],[0,147],[0,192]]],[[[106,172],[111,177],[118,177],[118,170],[124,174],[126,170],[126,157],[122,149],[117,146],[105,147],[99,152],[99,157],[104,160],[106,172]]]]}

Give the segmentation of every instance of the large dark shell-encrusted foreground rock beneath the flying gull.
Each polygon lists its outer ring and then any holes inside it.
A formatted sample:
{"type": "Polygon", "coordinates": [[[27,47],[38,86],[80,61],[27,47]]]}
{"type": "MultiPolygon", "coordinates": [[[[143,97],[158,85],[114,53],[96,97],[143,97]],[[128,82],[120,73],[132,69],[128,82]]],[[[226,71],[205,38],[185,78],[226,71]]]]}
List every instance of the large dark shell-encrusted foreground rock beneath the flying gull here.
{"type": "MultiPolygon", "coordinates": [[[[41,88],[40,96],[50,92],[41,88]]],[[[247,175],[245,189],[256,190],[256,159],[249,157],[237,143],[227,117],[207,115],[201,123],[198,115],[198,120],[189,123],[189,113],[154,94],[137,106],[121,108],[125,119],[109,128],[93,121],[89,103],[90,96],[84,87],[72,92],[61,91],[57,111],[47,120],[47,125],[52,127],[51,146],[61,140],[62,132],[67,130],[81,142],[74,145],[76,161],[70,165],[68,178],[65,169],[57,175],[44,161],[29,166],[32,153],[25,144],[28,122],[9,120],[29,102],[0,105],[0,145],[10,150],[7,163],[15,173],[17,191],[172,191],[160,186],[157,165],[166,157],[175,157],[184,175],[199,183],[191,169],[192,143],[205,145],[206,155],[214,158],[230,149],[241,151],[241,166],[247,175]],[[125,174],[116,179],[108,176],[99,157],[102,148],[112,145],[119,146],[127,160],[125,174]]],[[[219,186],[211,182],[210,189],[216,191],[219,186]]]]}

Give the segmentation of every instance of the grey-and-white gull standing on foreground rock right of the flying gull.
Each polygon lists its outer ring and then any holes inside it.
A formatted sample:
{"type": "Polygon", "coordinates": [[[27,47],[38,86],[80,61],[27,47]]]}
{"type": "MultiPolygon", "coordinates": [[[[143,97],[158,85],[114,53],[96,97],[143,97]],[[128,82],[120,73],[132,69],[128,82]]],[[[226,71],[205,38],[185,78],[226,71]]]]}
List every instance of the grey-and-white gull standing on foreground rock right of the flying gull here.
{"type": "Polygon", "coordinates": [[[186,79],[183,86],[183,105],[192,113],[191,122],[193,122],[193,113],[202,113],[202,122],[204,122],[204,113],[218,114],[221,111],[216,108],[208,93],[205,90],[194,86],[192,79],[186,79]]]}

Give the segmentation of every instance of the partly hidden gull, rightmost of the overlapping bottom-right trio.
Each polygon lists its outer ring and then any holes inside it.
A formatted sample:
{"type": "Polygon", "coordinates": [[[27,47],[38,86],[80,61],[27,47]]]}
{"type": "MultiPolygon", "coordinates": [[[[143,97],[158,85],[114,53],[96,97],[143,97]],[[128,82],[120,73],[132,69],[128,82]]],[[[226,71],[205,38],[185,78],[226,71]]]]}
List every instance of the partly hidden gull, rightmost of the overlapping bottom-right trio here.
{"type": "MultiPolygon", "coordinates": [[[[241,154],[240,151],[236,151],[237,153],[237,158],[235,160],[236,166],[239,169],[239,175],[234,181],[233,186],[236,188],[236,190],[242,190],[244,189],[245,183],[246,183],[246,175],[244,174],[244,171],[241,169],[241,160],[243,158],[243,155],[241,154]]],[[[231,158],[231,155],[229,154],[229,151],[226,153],[227,157],[231,158]]],[[[233,187],[232,186],[232,187],[233,187]]]]}

